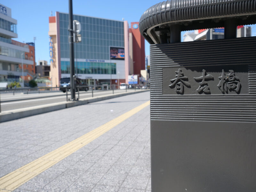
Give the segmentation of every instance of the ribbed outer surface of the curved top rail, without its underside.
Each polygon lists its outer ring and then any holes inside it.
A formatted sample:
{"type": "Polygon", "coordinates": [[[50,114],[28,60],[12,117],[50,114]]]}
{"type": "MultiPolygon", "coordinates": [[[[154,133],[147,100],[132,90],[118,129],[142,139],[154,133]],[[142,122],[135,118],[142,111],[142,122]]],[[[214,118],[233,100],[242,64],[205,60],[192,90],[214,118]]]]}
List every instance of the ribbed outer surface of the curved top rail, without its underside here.
{"type": "Polygon", "coordinates": [[[140,33],[169,21],[207,19],[256,12],[256,0],[171,0],[147,9],[140,18],[140,33]]]}

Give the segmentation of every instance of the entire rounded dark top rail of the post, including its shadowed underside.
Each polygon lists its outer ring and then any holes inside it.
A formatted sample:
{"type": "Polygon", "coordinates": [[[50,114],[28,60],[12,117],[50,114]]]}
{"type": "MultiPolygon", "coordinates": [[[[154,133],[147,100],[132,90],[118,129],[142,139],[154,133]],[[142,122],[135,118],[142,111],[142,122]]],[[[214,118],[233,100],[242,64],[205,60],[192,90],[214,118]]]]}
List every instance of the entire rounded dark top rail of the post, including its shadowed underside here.
{"type": "Polygon", "coordinates": [[[256,0],[170,0],[148,8],[139,28],[150,44],[160,43],[161,33],[170,36],[170,27],[181,31],[224,27],[225,20],[236,18],[238,25],[256,23],[256,0]]]}

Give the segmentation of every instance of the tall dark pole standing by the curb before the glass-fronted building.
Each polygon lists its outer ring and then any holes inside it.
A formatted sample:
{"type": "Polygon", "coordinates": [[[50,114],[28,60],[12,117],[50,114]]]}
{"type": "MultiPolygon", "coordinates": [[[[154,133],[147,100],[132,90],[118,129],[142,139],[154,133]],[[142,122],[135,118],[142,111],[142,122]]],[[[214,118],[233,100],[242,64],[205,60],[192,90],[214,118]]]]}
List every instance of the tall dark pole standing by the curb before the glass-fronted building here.
{"type": "Polygon", "coordinates": [[[72,0],[68,0],[69,6],[69,58],[70,58],[70,92],[71,92],[71,100],[76,100],[76,93],[75,93],[75,82],[73,76],[75,75],[75,59],[74,59],[74,39],[73,39],[73,6],[72,0]]]}

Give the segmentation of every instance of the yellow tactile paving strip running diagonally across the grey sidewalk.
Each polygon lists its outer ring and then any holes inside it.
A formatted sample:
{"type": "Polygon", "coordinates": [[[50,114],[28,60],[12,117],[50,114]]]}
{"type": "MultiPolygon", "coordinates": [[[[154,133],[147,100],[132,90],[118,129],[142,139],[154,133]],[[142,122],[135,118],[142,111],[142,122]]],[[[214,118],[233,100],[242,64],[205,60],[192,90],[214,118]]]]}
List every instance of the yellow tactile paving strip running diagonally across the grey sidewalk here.
{"type": "Polygon", "coordinates": [[[97,139],[104,133],[108,132],[110,129],[116,125],[122,123],[124,120],[128,119],[132,115],[138,113],[141,109],[147,107],[150,101],[133,108],[132,110],[116,117],[115,119],[109,121],[108,123],[101,125],[100,127],[84,134],[83,136],[63,145],[62,147],[55,149],[54,151],[30,162],[29,164],[20,167],[19,169],[5,175],[0,178],[0,192],[13,191],[20,185],[26,183],[28,180],[32,179],[36,175],[50,168],[54,164],[58,163],[65,157],[71,155],[78,149],[84,147],[91,141],[97,139]]]}

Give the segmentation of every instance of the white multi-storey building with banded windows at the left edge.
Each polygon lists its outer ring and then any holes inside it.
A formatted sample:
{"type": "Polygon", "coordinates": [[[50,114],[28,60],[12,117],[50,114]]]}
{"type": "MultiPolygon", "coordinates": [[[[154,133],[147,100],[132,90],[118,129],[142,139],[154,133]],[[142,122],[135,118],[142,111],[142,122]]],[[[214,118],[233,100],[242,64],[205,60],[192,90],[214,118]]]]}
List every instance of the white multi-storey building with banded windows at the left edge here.
{"type": "MultiPolygon", "coordinates": [[[[22,67],[34,66],[34,60],[26,57],[30,53],[28,44],[13,41],[17,38],[17,20],[12,18],[12,10],[0,4],[0,83],[9,84],[10,82],[21,81],[22,67]]],[[[27,68],[24,69],[24,76],[27,76],[27,68]]]]}

